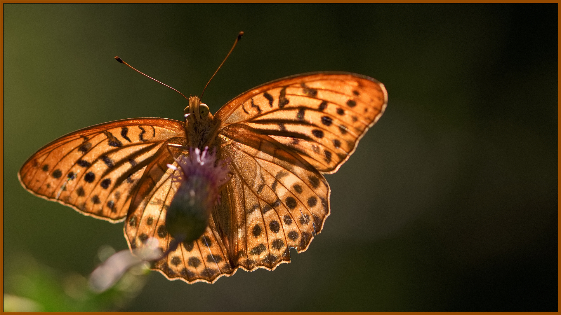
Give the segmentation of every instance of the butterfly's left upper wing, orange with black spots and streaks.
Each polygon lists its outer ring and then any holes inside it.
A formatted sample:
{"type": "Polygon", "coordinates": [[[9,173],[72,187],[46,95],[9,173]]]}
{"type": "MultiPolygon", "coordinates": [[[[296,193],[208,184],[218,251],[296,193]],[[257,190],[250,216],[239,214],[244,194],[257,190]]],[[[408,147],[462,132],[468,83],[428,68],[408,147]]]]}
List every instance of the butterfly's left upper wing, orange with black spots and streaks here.
{"type": "Polygon", "coordinates": [[[163,144],[186,143],[184,127],[172,119],[134,118],[80,129],[39,149],[18,178],[36,196],[120,221],[133,197],[142,198],[139,179],[158,157],[162,160],[163,144]]]}

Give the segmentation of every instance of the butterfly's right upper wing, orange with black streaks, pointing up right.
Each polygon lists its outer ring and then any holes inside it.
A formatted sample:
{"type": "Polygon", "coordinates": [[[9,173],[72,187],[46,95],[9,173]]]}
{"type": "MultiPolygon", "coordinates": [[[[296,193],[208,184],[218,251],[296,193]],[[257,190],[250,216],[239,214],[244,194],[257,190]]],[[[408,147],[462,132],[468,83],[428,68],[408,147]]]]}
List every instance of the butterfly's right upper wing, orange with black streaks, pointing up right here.
{"type": "Polygon", "coordinates": [[[317,170],[333,173],[383,113],[387,92],[373,78],[352,73],[288,77],[246,92],[215,119],[245,124],[298,152],[317,170]]]}

